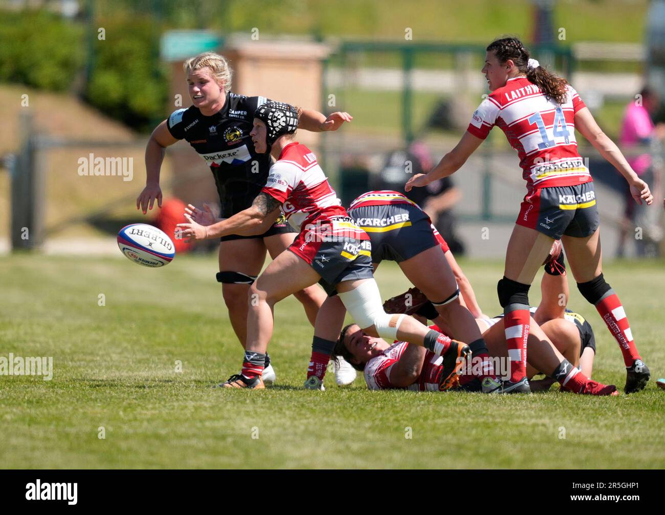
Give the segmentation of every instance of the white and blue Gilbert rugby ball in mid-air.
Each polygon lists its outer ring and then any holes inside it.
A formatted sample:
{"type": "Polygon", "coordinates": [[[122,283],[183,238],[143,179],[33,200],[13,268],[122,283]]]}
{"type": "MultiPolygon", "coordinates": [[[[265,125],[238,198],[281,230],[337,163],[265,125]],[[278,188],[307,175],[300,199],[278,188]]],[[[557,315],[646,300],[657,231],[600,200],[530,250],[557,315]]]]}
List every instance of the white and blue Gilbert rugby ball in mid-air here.
{"type": "Polygon", "coordinates": [[[120,229],[118,247],[128,259],[151,268],[169,264],[176,256],[176,246],[166,233],[147,223],[120,229]]]}

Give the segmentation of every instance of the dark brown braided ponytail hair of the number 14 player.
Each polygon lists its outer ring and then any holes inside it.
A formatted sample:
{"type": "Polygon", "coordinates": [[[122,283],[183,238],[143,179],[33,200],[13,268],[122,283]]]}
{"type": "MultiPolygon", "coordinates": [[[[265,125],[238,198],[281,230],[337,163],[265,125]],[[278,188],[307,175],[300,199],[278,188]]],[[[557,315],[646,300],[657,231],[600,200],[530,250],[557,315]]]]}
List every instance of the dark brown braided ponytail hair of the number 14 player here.
{"type": "Polygon", "coordinates": [[[547,98],[552,98],[557,104],[566,102],[568,81],[548,72],[542,65],[537,68],[529,68],[529,51],[519,41],[519,38],[511,36],[495,39],[485,50],[494,51],[501,64],[511,59],[517,69],[527,74],[529,82],[538,86],[547,98]]]}

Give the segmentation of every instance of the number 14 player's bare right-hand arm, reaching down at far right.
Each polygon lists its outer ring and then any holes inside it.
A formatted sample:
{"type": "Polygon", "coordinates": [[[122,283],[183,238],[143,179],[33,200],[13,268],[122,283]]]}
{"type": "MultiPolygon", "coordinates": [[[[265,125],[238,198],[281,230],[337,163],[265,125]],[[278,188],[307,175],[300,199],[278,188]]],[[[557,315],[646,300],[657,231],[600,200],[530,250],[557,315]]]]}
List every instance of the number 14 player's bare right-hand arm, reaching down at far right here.
{"type": "Polygon", "coordinates": [[[589,108],[582,108],[575,113],[575,127],[624,176],[636,203],[642,205],[644,201],[650,205],[654,201],[648,184],[637,176],[616,144],[602,132],[589,108]]]}

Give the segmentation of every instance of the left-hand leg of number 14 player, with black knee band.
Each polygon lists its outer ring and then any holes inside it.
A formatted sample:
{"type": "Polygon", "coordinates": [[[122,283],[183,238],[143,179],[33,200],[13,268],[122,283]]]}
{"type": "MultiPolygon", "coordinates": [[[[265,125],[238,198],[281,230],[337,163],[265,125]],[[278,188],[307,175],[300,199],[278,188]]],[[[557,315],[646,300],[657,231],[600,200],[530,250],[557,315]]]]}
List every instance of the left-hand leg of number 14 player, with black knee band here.
{"type": "Polygon", "coordinates": [[[523,225],[515,225],[508,242],[503,278],[497,284],[503,308],[503,326],[511,361],[510,384],[504,391],[527,391],[527,340],[531,314],[529,288],[549,255],[554,238],[523,225]]]}

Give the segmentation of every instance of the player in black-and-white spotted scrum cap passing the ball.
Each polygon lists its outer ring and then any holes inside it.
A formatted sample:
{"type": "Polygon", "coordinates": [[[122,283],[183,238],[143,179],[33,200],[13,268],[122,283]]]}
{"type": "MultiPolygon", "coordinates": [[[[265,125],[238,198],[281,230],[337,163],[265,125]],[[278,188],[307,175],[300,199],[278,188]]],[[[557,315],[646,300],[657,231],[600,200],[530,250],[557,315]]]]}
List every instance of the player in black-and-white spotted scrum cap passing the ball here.
{"type": "MultiPolygon", "coordinates": [[[[372,276],[370,239],[340,205],[316,156],[295,141],[297,122],[297,113],[289,104],[269,102],[259,106],[251,138],[257,152],[269,152],[277,160],[261,193],[251,207],[228,219],[203,226],[186,215],[189,223],[179,225],[188,239],[219,238],[259,231],[275,221],[282,209],[289,223],[301,231],[289,252],[278,255],[252,284],[241,373],[232,375],[223,387],[264,387],[261,373],[273,334],[273,307],[316,282],[321,282],[329,295],[338,294],[368,334],[406,340],[437,355],[457,352],[464,344],[453,342],[410,316],[384,312],[372,276]]],[[[318,329],[319,316],[315,335],[318,329]]]]}

